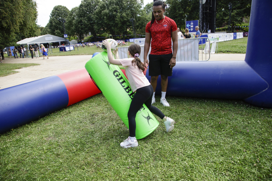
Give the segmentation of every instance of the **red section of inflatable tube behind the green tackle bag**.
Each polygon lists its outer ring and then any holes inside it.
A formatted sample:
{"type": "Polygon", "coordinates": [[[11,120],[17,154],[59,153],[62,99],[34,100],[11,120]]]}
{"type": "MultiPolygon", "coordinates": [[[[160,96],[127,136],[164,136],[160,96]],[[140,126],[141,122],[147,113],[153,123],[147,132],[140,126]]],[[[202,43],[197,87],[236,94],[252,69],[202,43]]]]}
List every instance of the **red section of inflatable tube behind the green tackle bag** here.
{"type": "Polygon", "coordinates": [[[85,68],[69,71],[57,76],[64,82],[68,91],[69,103],[67,106],[101,92],[93,83],[85,68]]]}

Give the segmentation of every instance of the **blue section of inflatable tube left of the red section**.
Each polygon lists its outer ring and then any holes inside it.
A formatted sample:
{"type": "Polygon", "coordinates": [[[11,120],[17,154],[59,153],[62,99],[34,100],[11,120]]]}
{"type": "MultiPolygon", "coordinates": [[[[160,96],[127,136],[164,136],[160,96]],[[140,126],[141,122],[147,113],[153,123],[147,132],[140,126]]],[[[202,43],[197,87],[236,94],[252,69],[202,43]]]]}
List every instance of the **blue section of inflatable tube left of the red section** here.
{"type": "Polygon", "coordinates": [[[69,96],[58,76],[1,90],[0,133],[67,106],[69,96]]]}

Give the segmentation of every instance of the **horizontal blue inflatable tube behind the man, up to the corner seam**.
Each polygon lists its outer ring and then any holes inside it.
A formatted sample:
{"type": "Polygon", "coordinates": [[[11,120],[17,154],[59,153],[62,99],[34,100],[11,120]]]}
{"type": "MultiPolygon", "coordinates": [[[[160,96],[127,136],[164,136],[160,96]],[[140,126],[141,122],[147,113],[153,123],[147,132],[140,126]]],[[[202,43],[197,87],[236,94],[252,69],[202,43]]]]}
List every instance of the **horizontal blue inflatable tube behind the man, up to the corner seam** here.
{"type": "MultiPolygon", "coordinates": [[[[147,70],[148,75],[148,70],[147,70]]],[[[150,81],[151,77],[147,76],[150,81]]],[[[158,84],[156,94],[161,93],[158,84]]],[[[244,61],[176,62],[168,77],[167,95],[214,99],[245,99],[268,84],[244,61]]]]}

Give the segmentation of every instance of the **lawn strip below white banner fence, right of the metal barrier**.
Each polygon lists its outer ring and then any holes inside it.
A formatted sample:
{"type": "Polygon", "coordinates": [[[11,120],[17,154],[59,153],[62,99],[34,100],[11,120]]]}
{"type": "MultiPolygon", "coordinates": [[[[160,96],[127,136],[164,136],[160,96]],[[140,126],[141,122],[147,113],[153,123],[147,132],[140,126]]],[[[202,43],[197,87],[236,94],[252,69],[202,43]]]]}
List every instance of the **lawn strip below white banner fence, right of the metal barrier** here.
{"type": "MultiPolygon", "coordinates": [[[[246,53],[247,43],[248,43],[248,37],[219,42],[217,53],[246,53]]],[[[205,45],[203,45],[202,47],[204,49],[205,45]]],[[[199,48],[201,48],[201,46],[199,46],[199,48]]]]}

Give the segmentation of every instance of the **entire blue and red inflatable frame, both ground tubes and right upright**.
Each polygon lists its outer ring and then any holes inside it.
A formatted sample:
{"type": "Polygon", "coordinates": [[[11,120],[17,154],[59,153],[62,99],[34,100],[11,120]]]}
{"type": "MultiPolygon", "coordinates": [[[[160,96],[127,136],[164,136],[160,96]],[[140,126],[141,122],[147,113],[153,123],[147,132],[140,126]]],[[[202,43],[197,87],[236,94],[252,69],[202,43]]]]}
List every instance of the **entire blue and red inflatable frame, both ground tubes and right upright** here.
{"type": "MultiPolygon", "coordinates": [[[[270,9],[271,0],[252,0],[250,31],[258,32],[264,24],[267,30],[272,29],[270,9]]],[[[239,99],[272,108],[271,49],[270,37],[249,33],[245,61],[177,62],[168,80],[167,94],[239,99]]],[[[160,90],[158,84],[156,92],[160,90]]],[[[98,93],[85,68],[2,89],[0,133],[98,93]]]]}

